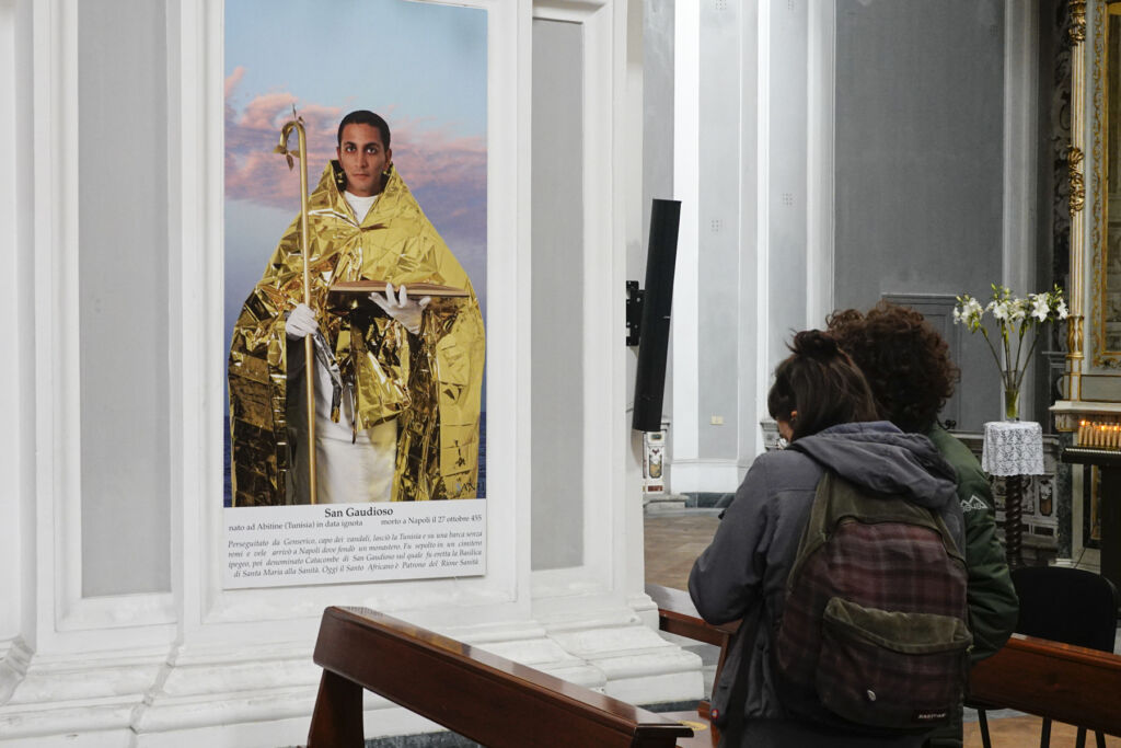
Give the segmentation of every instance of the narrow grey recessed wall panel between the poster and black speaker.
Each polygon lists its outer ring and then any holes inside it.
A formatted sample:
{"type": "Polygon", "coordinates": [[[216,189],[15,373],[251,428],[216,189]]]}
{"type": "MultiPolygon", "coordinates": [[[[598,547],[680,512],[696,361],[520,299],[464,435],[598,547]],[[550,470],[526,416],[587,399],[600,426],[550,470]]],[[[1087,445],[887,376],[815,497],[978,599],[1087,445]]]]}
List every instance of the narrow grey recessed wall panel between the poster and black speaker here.
{"type": "Polygon", "coordinates": [[[532,567],[584,560],[584,28],[534,19],[532,567]]]}

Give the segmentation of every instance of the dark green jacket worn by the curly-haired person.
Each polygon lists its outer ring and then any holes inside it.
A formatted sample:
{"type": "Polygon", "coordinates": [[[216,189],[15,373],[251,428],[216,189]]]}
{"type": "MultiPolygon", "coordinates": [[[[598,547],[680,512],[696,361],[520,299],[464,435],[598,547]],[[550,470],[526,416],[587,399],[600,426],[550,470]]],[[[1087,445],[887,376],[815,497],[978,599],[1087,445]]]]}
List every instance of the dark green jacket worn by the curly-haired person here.
{"type": "Polygon", "coordinates": [[[1020,603],[1008,573],[1004,546],[997,538],[992,491],[981,465],[969,447],[942,426],[935,425],[926,435],[957,471],[957,499],[965,518],[965,564],[970,573],[966,597],[975,665],[1004,646],[1016,627],[1020,603]]]}

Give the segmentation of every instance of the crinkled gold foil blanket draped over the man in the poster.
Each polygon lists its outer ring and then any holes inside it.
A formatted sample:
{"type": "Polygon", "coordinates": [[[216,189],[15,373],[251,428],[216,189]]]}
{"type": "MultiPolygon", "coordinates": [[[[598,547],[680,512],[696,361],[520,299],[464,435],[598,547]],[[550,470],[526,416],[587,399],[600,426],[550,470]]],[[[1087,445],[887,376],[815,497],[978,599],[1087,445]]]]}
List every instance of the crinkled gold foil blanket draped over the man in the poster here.
{"type": "MultiPolygon", "coordinates": [[[[398,419],[393,500],[475,498],[485,342],[474,289],[396,169],[361,223],[339,190],[340,178],[332,161],[308,204],[311,307],[352,387],[355,430],[398,419]],[[387,280],[395,288],[434,283],[463,288],[470,297],[433,298],[414,336],[365,298],[326,308],[331,285],[341,280],[387,280]]],[[[303,297],[297,215],[233,329],[230,428],[238,507],[293,500],[286,498],[293,458],[285,316],[303,297]]],[[[324,397],[331,393],[316,393],[324,397]]]]}

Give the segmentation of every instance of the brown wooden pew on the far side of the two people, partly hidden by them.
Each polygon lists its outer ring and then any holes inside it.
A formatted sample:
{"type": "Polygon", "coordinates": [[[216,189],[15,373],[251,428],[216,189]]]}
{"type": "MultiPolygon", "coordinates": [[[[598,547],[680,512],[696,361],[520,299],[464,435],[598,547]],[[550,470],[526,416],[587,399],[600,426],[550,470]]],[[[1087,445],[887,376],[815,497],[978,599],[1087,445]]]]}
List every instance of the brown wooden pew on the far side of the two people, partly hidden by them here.
{"type": "MultiPolygon", "coordinates": [[[[663,630],[726,648],[730,626],[705,624],[688,593],[655,584],[646,591],[663,630]]],[[[971,699],[1114,736],[1121,736],[1119,693],[1121,656],[1022,634],[970,674],[971,699]]]]}

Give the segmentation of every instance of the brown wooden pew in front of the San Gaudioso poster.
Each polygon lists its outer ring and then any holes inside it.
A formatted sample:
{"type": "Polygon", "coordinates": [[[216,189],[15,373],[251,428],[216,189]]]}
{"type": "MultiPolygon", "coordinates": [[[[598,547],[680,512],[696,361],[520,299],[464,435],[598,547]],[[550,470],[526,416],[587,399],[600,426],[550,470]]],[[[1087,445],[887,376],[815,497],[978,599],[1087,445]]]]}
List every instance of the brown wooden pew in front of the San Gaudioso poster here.
{"type": "Polygon", "coordinates": [[[669,748],[679,722],[364,608],[327,608],[308,748],[361,748],[362,690],[492,748],[669,748]]]}

